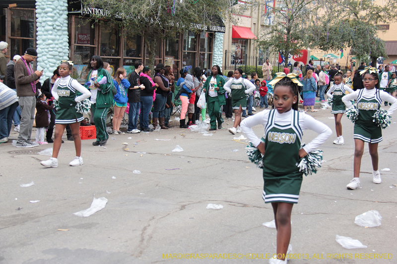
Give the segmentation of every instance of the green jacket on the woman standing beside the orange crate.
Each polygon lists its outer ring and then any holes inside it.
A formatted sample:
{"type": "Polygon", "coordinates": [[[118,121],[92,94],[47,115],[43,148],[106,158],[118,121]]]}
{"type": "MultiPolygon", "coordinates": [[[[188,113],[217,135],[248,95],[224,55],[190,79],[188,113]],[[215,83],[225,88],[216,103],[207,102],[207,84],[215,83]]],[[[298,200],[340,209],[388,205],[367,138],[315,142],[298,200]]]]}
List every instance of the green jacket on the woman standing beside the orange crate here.
{"type": "MultiPolygon", "coordinates": [[[[88,73],[87,80],[85,82],[89,81],[91,73],[92,73],[92,69],[88,73]]],[[[99,85],[99,89],[101,89],[101,91],[98,90],[98,93],[96,96],[96,107],[97,108],[100,108],[100,107],[110,108],[113,104],[112,89],[114,88],[114,85],[113,85],[112,76],[110,76],[110,73],[107,70],[105,70],[104,68],[99,68],[98,69],[98,77],[101,75],[106,76],[106,83],[99,85]]],[[[87,85],[84,85],[84,87],[88,88],[87,85]]]]}

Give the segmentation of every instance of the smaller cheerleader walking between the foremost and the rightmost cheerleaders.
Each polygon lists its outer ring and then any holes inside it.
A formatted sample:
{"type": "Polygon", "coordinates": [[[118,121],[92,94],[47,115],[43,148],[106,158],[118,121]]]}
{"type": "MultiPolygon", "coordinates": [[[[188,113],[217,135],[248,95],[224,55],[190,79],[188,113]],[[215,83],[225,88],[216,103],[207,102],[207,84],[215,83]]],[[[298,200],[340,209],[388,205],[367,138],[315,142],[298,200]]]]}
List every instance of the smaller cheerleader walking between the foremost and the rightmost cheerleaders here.
{"type": "Polygon", "coordinates": [[[343,145],[344,140],[340,119],[342,119],[346,106],[342,102],[342,97],[346,95],[346,91],[349,93],[353,93],[354,91],[349,86],[342,83],[342,74],[340,74],[340,72],[333,76],[333,83],[334,85],[327,92],[327,96],[332,98],[331,113],[333,113],[333,116],[335,117],[336,139],[333,141],[333,144],[343,145]]]}

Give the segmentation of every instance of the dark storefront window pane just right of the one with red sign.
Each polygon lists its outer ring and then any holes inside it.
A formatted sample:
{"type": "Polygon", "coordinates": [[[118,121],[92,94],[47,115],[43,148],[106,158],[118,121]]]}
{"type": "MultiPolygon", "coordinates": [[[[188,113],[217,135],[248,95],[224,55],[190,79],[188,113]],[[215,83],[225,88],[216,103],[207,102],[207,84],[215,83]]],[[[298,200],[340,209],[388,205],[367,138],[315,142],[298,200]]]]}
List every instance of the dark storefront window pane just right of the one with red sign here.
{"type": "Polygon", "coordinates": [[[114,23],[101,23],[101,56],[120,56],[119,25],[114,23]]]}

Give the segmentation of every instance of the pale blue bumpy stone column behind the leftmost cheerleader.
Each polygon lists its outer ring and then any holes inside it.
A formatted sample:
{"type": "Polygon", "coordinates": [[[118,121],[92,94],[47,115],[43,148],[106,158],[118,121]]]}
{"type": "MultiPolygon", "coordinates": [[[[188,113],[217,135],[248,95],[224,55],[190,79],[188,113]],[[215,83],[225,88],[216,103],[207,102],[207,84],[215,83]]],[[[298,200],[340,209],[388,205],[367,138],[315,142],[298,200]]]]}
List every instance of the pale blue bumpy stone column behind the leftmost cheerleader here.
{"type": "Polygon", "coordinates": [[[61,60],[68,60],[67,0],[36,1],[37,69],[41,83],[53,75],[61,60]]]}

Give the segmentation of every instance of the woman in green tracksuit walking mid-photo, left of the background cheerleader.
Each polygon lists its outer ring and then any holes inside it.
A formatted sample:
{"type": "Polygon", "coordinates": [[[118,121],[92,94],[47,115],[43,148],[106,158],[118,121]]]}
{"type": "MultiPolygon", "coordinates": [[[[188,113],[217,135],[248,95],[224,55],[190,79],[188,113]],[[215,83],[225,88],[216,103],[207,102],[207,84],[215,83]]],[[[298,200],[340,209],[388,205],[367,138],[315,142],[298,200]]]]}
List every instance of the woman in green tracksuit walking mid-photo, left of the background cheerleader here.
{"type": "Polygon", "coordinates": [[[225,90],[223,89],[226,79],[218,65],[212,67],[211,73],[204,83],[203,90],[210,118],[209,130],[216,130],[216,120],[218,120],[218,129],[222,128],[223,123],[220,106],[226,105],[225,90]]]}

